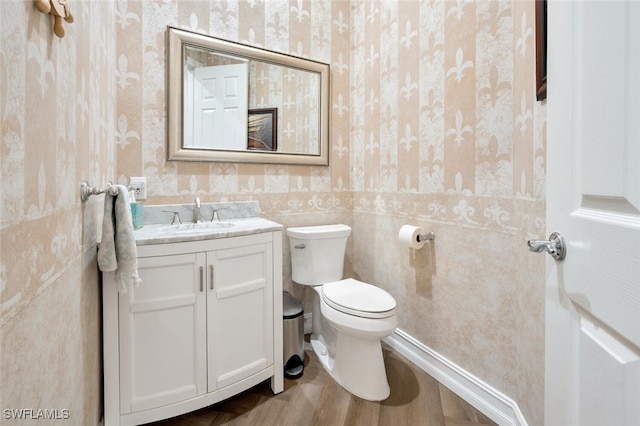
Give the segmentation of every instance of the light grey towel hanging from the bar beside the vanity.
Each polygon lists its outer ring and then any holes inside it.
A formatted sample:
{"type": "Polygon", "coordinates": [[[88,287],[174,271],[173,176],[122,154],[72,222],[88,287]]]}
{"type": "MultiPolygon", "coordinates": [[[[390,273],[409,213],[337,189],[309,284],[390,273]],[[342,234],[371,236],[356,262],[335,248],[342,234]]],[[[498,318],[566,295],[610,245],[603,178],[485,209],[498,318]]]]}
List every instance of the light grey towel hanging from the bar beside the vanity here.
{"type": "Polygon", "coordinates": [[[133,236],[133,223],[127,187],[116,185],[118,194],[104,195],[102,240],[98,248],[98,266],[101,271],[115,271],[118,291],[126,293],[129,287],[142,282],[138,277],[138,251],[133,236]]]}

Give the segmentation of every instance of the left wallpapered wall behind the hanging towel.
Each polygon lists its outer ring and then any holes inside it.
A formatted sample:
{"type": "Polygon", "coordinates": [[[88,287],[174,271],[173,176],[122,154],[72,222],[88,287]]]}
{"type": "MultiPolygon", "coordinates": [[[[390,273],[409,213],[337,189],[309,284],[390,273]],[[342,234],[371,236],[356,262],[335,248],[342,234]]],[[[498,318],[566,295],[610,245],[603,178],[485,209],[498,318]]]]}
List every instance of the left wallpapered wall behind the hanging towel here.
{"type": "Polygon", "coordinates": [[[7,424],[5,409],[68,410],[86,425],[102,415],[95,256],[102,203],[81,203],[79,184],[103,185],[115,173],[114,10],[111,2],[71,7],[75,23],[64,25],[60,39],[53,18],[33,2],[0,2],[0,407],[7,424]]]}

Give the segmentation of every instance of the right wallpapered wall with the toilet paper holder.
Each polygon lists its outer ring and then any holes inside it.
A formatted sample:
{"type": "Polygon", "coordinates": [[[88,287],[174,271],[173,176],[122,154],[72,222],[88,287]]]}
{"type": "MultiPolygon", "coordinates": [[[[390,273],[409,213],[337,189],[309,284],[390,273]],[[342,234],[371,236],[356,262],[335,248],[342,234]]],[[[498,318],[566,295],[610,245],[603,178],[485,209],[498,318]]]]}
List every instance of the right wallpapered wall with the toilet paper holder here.
{"type": "MultiPolygon", "coordinates": [[[[543,423],[545,107],[534,2],[353,2],[354,274],[543,423]],[[403,224],[434,231],[412,253],[403,224]]],[[[335,100],[334,100],[335,102],[335,100]]]]}

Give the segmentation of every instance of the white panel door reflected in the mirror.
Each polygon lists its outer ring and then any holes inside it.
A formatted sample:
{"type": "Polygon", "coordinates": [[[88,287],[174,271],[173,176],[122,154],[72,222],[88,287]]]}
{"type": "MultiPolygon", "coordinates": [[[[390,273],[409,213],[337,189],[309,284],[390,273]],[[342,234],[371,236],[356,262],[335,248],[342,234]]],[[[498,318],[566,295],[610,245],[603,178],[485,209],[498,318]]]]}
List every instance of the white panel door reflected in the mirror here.
{"type": "Polygon", "coordinates": [[[195,69],[193,146],[246,149],[249,84],[246,63],[195,69]]]}

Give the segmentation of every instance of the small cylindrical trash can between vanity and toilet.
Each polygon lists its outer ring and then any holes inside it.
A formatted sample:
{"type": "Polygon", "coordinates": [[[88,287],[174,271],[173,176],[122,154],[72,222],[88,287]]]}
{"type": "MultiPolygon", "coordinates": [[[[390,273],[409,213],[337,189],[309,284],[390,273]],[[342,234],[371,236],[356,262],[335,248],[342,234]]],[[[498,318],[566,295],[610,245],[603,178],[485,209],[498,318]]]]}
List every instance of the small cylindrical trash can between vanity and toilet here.
{"type": "Polygon", "coordinates": [[[291,379],[302,376],[304,370],[304,309],[289,292],[282,293],[282,336],[284,375],[291,379]]]}

